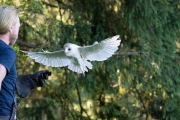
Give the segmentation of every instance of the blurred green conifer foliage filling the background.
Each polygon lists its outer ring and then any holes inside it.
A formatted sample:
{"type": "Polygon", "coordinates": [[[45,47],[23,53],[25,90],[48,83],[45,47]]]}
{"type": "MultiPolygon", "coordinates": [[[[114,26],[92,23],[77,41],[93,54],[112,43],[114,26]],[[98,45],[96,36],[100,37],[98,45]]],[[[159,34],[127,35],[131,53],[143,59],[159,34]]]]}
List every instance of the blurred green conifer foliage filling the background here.
{"type": "Polygon", "coordinates": [[[22,26],[14,46],[18,74],[52,71],[45,86],[21,100],[19,119],[180,118],[179,0],[1,3],[21,10],[22,26]],[[67,68],[35,63],[19,51],[55,51],[66,42],[83,46],[117,34],[122,40],[117,55],[92,62],[93,69],[86,73],[85,80],[67,68]]]}

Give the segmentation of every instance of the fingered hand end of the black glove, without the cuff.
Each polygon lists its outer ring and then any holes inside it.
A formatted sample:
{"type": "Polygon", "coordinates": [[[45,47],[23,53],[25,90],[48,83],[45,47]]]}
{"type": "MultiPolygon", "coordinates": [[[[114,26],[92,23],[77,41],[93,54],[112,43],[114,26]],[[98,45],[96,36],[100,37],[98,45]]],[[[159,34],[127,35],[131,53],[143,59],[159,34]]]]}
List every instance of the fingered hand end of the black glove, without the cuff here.
{"type": "Polygon", "coordinates": [[[49,76],[51,76],[51,72],[48,70],[41,70],[34,74],[30,74],[32,80],[36,82],[37,87],[42,87],[49,76]]]}

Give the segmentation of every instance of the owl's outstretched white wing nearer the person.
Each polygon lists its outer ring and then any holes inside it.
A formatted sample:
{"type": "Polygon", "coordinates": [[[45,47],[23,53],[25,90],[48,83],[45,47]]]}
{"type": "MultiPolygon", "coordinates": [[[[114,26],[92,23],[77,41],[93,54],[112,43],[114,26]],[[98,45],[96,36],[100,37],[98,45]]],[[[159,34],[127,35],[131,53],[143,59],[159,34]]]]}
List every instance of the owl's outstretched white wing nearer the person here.
{"type": "Polygon", "coordinates": [[[41,63],[51,67],[64,67],[71,63],[71,59],[65,55],[63,50],[55,52],[28,52],[22,51],[27,54],[35,62],[41,63]]]}

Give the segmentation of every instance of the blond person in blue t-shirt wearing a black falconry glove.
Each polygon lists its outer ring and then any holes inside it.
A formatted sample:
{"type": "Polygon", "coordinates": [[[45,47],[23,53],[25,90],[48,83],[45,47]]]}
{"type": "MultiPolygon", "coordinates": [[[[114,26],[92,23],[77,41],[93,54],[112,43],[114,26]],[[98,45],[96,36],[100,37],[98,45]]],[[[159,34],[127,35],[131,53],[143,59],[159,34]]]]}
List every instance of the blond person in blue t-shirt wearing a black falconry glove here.
{"type": "Polygon", "coordinates": [[[16,43],[20,28],[19,10],[8,5],[0,6],[0,120],[15,120],[15,91],[21,98],[27,97],[36,87],[42,87],[51,72],[17,76],[16,43]]]}

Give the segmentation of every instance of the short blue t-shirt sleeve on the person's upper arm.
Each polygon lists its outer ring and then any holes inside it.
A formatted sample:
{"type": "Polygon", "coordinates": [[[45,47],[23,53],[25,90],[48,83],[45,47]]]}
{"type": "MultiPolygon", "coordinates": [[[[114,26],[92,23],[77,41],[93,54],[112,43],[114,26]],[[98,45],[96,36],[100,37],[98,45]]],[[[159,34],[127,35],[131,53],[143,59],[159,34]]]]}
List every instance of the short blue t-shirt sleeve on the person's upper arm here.
{"type": "Polygon", "coordinates": [[[16,53],[12,48],[0,49],[0,64],[2,64],[7,72],[10,71],[11,67],[15,64],[16,53]]]}

